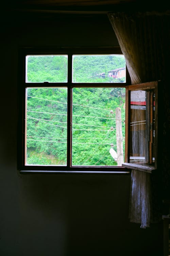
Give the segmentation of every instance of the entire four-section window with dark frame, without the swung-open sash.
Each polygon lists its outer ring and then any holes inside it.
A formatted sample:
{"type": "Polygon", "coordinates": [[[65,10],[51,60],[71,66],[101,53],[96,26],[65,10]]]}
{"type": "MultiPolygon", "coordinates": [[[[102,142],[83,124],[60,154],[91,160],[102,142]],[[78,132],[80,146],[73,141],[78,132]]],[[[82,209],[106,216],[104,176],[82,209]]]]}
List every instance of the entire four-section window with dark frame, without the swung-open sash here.
{"type": "Polygon", "coordinates": [[[125,171],[129,82],[120,49],[22,49],[20,56],[19,170],[125,171]]]}

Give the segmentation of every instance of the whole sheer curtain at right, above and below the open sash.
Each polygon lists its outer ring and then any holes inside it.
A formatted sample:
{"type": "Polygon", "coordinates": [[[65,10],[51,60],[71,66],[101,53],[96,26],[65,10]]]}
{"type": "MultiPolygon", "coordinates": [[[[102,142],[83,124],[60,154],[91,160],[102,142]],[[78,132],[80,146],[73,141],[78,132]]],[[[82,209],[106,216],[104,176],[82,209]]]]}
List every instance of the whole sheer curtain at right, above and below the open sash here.
{"type": "MultiPolygon", "coordinates": [[[[108,13],[108,18],[125,56],[131,83],[168,81],[169,12],[108,13]]],[[[151,175],[131,172],[129,217],[141,228],[150,226],[153,214],[151,175]]]]}

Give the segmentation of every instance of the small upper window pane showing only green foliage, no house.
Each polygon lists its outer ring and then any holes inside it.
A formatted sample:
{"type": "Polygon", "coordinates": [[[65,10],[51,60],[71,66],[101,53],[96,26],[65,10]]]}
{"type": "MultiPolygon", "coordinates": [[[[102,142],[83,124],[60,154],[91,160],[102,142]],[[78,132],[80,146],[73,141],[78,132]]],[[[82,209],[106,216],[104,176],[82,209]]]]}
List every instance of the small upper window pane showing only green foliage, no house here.
{"type": "Polygon", "coordinates": [[[27,55],[26,83],[67,83],[67,55],[27,55]]]}

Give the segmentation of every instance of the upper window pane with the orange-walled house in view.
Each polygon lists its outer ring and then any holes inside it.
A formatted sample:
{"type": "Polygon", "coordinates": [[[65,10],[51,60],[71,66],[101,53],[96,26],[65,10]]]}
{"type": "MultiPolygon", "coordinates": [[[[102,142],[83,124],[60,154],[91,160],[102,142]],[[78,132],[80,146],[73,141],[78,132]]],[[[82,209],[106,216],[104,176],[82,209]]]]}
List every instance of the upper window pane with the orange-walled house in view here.
{"type": "Polygon", "coordinates": [[[125,83],[123,55],[73,55],[73,83],[125,83]]]}

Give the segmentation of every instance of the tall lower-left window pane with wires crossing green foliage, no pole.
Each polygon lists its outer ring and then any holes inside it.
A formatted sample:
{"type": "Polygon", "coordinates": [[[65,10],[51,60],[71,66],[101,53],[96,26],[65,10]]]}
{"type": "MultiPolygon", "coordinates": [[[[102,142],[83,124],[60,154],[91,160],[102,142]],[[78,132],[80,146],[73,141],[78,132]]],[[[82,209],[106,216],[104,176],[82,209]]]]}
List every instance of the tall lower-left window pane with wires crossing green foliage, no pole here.
{"type": "Polygon", "coordinates": [[[67,88],[27,88],[26,165],[67,164],[67,88]]]}

